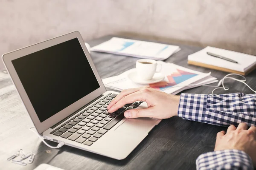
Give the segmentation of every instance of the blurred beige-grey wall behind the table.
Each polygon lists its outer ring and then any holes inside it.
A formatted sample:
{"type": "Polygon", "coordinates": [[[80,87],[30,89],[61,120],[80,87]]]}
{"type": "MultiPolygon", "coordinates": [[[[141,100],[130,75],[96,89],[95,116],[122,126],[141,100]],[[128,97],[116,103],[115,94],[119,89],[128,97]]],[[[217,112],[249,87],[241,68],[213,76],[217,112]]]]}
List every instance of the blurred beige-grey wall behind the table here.
{"type": "Polygon", "coordinates": [[[256,0],[0,0],[0,54],[76,30],[256,55],[256,0]]]}

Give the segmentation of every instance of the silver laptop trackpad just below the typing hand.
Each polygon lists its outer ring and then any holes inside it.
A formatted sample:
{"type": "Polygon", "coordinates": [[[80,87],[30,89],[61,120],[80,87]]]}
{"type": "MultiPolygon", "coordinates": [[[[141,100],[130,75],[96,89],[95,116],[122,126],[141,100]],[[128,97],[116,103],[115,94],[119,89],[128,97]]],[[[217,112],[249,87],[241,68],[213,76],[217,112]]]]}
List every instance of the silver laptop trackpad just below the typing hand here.
{"type": "Polygon", "coordinates": [[[115,129],[115,132],[132,134],[132,135],[142,135],[152,129],[156,124],[157,119],[152,119],[148,117],[127,119],[119,127],[115,129]]]}

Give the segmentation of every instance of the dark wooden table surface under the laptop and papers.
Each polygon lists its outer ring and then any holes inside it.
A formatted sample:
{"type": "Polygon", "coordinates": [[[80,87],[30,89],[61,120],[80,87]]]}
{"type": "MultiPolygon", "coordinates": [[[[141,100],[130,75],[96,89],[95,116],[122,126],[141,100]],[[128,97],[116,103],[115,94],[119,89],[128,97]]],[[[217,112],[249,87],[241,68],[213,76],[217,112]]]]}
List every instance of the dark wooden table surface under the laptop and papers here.
{"type": "MultiPolygon", "coordinates": [[[[109,40],[106,36],[88,41],[91,46],[109,40]]],[[[128,38],[128,37],[125,37],[128,38]]],[[[180,45],[180,44],[178,44],[180,45]]],[[[221,79],[227,73],[187,64],[187,56],[201,47],[180,45],[181,51],[166,59],[186,68],[201,72],[212,72],[212,76],[221,79]]],[[[135,67],[137,58],[92,52],[91,56],[102,78],[121,74],[135,67]]],[[[256,89],[256,71],[247,77],[247,83],[256,89]]],[[[244,84],[227,80],[229,91],[220,89],[216,94],[243,92],[250,94],[244,84]]],[[[210,94],[213,88],[198,87],[183,93],[210,94]]],[[[142,170],[142,169],[195,169],[195,160],[201,153],[214,149],[216,133],[226,130],[199,122],[183,120],[177,116],[165,119],[156,126],[132,153],[124,160],[115,160],[69,146],[60,149],[47,147],[29,130],[32,122],[26,112],[15,87],[5,70],[0,71],[0,169],[32,170],[39,164],[46,163],[64,170],[142,170]],[[32,151],[35,161],[26,166],[13,164],[6,159],[17,150],[32,151]]],[[[49,142],[56,145],[54,142],[49,142]]],[[[115,147],[115,144],[106,144],[115,147]]],[[[125,146],[124,146],[125,147],[125,146]]]]}

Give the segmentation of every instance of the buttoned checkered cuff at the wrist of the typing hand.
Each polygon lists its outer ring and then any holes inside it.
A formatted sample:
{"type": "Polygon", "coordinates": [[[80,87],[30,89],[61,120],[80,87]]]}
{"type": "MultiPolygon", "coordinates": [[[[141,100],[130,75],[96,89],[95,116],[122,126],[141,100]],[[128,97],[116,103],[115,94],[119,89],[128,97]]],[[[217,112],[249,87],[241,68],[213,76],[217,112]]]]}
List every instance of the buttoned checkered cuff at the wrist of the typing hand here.
{"type": "Polygon", "coordinates": [[[207,94],[181,94],[178,116],[186,120],[204,122],[207,94]]]}

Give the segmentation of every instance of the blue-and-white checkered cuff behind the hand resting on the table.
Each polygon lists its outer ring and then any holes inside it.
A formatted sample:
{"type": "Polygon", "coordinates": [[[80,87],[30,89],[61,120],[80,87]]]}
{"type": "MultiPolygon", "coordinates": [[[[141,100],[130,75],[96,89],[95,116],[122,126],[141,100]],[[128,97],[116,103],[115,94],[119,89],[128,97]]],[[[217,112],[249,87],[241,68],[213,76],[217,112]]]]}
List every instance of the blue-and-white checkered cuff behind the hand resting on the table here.
{"type": "Polygon", "coordinates": [[[218,150],[196,159],[197,170],[253,170],[249,155],[241,150],[218,150]]]}

